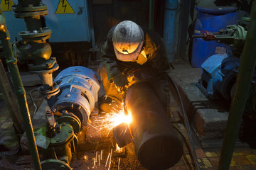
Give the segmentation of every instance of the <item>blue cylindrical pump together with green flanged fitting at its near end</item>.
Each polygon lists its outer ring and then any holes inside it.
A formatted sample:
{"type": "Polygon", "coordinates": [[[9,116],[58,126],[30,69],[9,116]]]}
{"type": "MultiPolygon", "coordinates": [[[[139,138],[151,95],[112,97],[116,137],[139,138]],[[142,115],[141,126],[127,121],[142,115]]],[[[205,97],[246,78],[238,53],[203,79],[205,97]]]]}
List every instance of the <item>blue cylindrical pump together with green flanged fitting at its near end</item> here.
{"type": "Polygon", "coordinates": [[[68,169],[78,146],[78,132],[87,125],[100,89],[97,75],[86,67],[69,67],[55,78],[60,92],[51,96],[46,111],[48,123],[36,131],[43,169],[68,169]]]}

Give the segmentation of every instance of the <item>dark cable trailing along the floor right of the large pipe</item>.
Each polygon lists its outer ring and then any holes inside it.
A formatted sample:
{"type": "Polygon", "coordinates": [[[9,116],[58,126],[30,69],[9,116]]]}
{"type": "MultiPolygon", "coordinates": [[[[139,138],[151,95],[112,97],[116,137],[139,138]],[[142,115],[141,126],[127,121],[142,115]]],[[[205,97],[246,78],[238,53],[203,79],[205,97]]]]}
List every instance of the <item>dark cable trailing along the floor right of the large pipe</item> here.
{"type": "MultiPolygon", "coordinates": [[[[177,86],[176,82],[174,81],[174,79],[171,77],[171,75],[170,74],[166,74],[166,78],[168,79],[169,83],[171,83],[174,86],[174,89],[175,89],[175,91],[176,91],[176,93],[178,95],[178,99],[179,99],[179,101],[181,103],[181,108],[182,108],[182,113],[183,113],[183,115],[181,115],[181,118],[183,118],[184,125],[186,127],[186,132],[187,132],[187,135],[188,135],[188,142],[190,144],[189,149],[191,151],[193,162],[195,163],[196,169],[199,170],[200,168],[199,168],[199,165],[198,165],[198,162],[197,162],[197,159],[196,159],[195,148],[193,147],[193,139],[192,139],[192,135],[191,135],[191,126],[190,126],[190,124],[188,122],[188,115],[186,114],[186,110],[185,110],[185,108],[183,106],[183,101],[182,101],[182,98],[181,98],[181,93],[178,90],[178,86],[177,86]]],[[[171,85],[171,84],[169,84],[169,85],[171,85]]]]}

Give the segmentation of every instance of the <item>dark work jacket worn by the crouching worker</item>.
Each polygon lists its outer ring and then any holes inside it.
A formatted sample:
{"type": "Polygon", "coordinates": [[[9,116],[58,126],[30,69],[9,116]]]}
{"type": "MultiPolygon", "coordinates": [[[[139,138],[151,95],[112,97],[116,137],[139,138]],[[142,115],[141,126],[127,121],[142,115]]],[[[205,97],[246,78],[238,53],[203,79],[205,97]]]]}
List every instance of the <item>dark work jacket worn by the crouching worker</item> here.
{"type": "Polygon", "coordinates": [[[131,74],[133,74],[134,81],[131,82],[131,79],[129,79],[129,86],[139,81],[157,81],[157,79],[165,79],[164,75],[166,72],[169,72],[170,66],[166,56],[164,41],[160,35],[153,30],[143,28],[144,45],[142,50],[145,52],[146,62],[143,64],[138,64],[137,62],[122,62],[117,60],[117,57],[114,54],[112,42],[114,28],[115,26],[110,29],[107,34],[107,40],[102,46],[102,59],[104,61],[98,69],[98,74],[101,77],[100,79],[105,79],[103,86],[106,95],[110,97],[113,95],[117,96],[110,92],[112,91],[110,88],[113,82],[112,79],[114,79],[117,74],[127,75],[127,77],[130,77],[131,74]]]}

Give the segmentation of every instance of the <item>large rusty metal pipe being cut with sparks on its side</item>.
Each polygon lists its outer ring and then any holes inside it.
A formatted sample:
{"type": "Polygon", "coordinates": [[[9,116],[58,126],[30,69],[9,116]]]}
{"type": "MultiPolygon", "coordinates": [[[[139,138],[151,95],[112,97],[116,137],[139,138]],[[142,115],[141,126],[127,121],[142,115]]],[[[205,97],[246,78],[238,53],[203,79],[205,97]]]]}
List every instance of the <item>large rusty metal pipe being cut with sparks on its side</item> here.
{"type": "Polygon", "coordinates": [[[178,162],[183,146],[163,106],[148,84],[134,84],[125,97],[132,115],[130,130],[139,162],[147,169],[168,169],[178,162]]]}

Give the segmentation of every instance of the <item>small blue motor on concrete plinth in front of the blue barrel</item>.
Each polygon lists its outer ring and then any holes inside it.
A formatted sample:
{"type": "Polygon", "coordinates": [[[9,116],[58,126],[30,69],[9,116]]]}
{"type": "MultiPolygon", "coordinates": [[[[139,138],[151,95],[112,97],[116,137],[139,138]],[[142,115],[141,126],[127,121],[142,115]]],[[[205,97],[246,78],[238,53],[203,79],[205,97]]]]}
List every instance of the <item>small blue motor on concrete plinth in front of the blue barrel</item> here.
{"type": "Polygon", "coordinates": [[[228,55],[213,55],[201,65],[203,74],[199,80],[199,88],[211,99],[221,94],[226,100],[231,100],[231,89],[236,76],[233,70],[239,66],[238,57],[228,55]]]}

